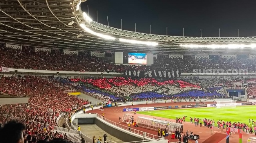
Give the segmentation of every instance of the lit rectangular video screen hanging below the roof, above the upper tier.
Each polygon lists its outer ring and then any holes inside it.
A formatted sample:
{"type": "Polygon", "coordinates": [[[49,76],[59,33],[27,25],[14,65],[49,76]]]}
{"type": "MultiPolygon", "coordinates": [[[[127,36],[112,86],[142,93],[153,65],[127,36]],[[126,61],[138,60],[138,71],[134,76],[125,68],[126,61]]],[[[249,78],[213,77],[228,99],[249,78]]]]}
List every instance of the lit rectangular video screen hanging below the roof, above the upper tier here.
{"type": "Polygon", "coordinates": [[[146,53],[129,53],[128,64],[147,64],[146,53]]]}

